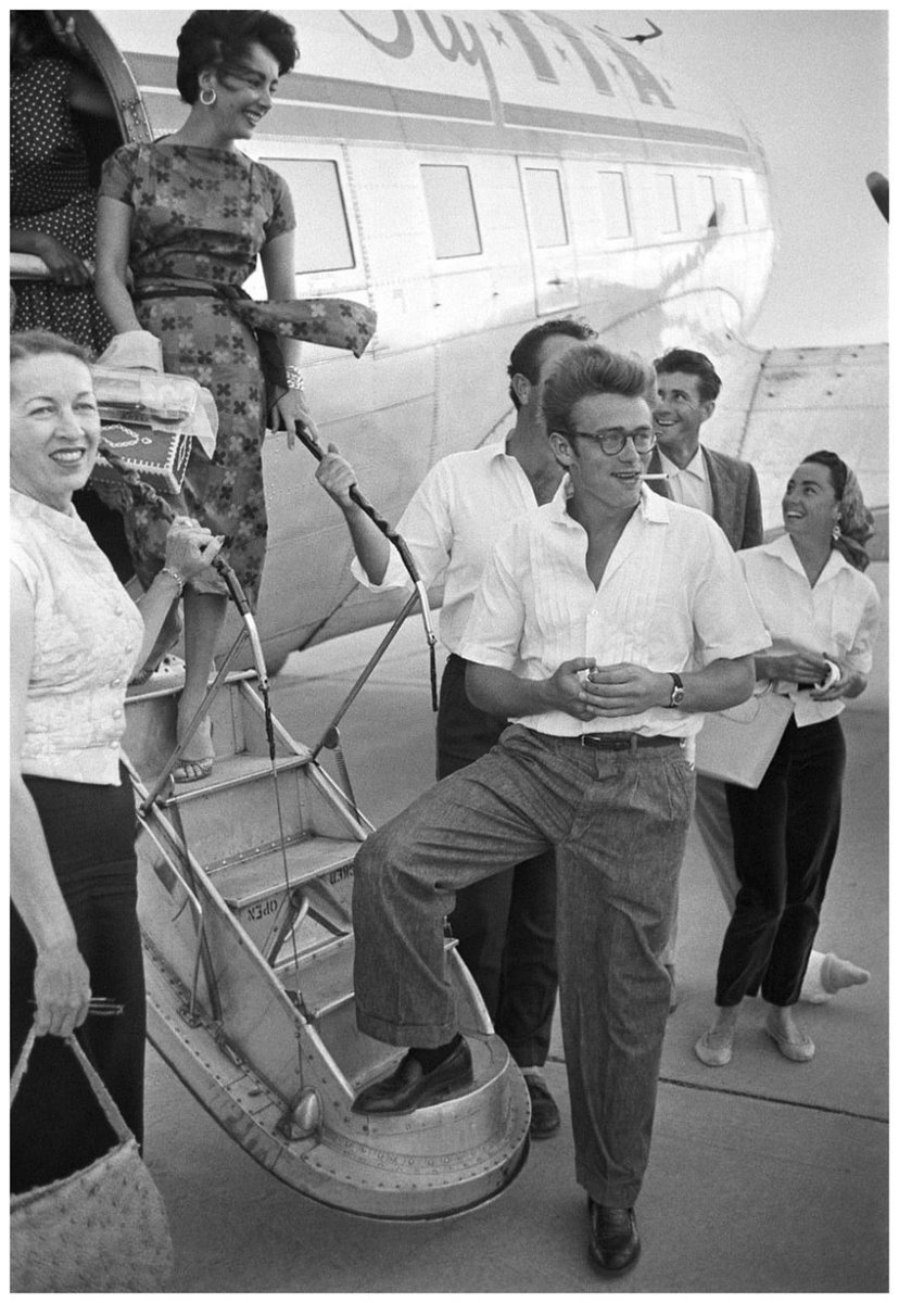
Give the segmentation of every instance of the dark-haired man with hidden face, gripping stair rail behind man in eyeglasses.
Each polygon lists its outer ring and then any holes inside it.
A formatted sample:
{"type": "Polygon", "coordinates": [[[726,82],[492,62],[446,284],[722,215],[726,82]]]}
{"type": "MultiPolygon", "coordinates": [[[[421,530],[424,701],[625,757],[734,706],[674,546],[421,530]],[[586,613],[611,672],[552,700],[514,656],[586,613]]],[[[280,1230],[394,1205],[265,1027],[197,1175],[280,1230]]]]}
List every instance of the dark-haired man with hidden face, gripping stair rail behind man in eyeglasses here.
{"type": "MultiPolygon", "coordinates": [[[[526,331],[508,362],[515,423],[506,439],[438,461],[396,526],[425,586],[444,584],[439,629],[450,655],[436,717],[438,778],[485,756],[508,723],[469,701],[463,637],[498,532],[516,516],[537,511],[559,487],[562,468],[541,414],[543,383],[560,357],[594,334],[571,318],[545,321],[526,331]]],[[[357,555],[356,579],[375,592],[408,588],[396,551],[349,496],[356,472],[334,444],[319,465],[318,480],[347,520],[357,555]]],[[[464,887],[450,917],[459,954],[496,1033],[524,1072],[532,1140],[555,1135],[562,1124],[543,1076],[559,990],[555,900],[555,857],[546,851],[464,887]]]]}

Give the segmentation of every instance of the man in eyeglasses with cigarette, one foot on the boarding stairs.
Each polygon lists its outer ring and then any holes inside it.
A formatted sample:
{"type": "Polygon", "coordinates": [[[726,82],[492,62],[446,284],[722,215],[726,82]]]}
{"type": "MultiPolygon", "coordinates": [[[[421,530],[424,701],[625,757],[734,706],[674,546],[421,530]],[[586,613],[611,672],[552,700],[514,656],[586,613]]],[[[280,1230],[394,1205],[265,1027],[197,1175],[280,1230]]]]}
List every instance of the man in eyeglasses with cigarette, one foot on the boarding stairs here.
{"type": "Polygon", "coordinates": [[[661,956],[693,804],[685,740],[698,711],[752,694],[769,645],[721,529],[642,483],[649,379],[598,344],[554,367],[542,405],[565,477],[500,537],[463,642],[472,700],[513,723],[369,838],[353,895],[358,1025],[410,1046],[354,1109],[408,1113],[472,1080],[444,973],[453,893],[555,848],[576,1174],[606,1273],[640,1252],[661,956]]]}

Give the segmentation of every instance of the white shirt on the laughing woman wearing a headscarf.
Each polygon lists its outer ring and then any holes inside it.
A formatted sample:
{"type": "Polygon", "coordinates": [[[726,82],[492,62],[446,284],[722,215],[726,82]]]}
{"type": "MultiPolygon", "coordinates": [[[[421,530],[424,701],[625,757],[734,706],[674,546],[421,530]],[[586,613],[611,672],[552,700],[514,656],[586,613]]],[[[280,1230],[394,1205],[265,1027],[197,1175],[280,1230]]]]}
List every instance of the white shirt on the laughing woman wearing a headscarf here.
{"type": "MultiPolygon", "coordinates": [[[[842,661],[860,674],[870,672],[881,599],[868,576],[849,566],[842,552],[831,551],[814,588],[788,534],[737,552],[737,558],[771,636],[773,655],[812,652],[842,661]]],[[[775,687],[793,701],[800,728],[833,719],[846,709],[844,701],[813,701],[796,684],[775,687]]]]}

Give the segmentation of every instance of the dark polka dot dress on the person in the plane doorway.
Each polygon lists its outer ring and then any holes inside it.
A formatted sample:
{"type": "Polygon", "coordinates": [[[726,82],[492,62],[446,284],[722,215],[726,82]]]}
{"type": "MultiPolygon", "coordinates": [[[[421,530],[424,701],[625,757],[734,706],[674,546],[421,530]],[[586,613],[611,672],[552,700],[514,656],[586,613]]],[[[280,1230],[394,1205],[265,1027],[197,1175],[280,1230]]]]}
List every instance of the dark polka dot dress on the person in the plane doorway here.
{"type": "MultiPolygon", "coordinates": [[[[70,66],[35,59],[13,70],[9,86],[10,225],[55,236],[79,258],[94,259],[96,195],[87,155],[69,113],[70,66]]],[[[17,280],[14,330],[51,330],[94,352],[112,327],[93,289],[17,280]]]]}

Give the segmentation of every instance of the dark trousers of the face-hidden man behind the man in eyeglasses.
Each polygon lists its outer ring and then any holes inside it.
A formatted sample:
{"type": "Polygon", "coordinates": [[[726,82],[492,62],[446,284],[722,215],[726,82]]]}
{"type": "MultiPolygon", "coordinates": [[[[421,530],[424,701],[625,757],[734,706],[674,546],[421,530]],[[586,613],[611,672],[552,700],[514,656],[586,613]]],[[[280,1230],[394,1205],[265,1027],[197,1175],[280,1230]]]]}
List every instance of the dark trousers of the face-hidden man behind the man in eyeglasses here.
{"type": "MultiPolygon", "coordinates": [[[[506,719],[472,705],[465,661],[451,655],[440,683],[436,777],[486,756],[506,727],[506,719]]],[[[542,1067],[550,1053],[559,990],[555,909],[555,851],[546,851],[463,887],[450,915],[459,952],[520,1067],[542,1067]]]]}

